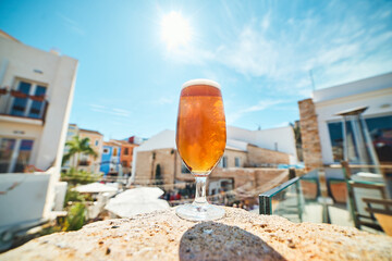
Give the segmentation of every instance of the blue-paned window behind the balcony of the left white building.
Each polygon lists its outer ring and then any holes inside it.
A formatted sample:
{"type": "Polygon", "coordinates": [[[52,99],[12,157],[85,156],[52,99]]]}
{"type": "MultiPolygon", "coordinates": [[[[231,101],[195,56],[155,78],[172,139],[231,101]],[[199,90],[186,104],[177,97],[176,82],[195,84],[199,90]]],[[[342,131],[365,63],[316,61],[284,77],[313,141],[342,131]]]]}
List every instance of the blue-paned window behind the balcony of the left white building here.
{"type": "MultiPolygon", "coordinates": [[[[34,97],[41,97],[46,95],[47,88],[41,85],[27,82],[19,82],[17,91],[34,97]]],[[[28,116],[34,119],[40,119],[44,113],[44,100],[28,99],[22,97],[14,97],[10,114],[16,116],[28,116]]]]}

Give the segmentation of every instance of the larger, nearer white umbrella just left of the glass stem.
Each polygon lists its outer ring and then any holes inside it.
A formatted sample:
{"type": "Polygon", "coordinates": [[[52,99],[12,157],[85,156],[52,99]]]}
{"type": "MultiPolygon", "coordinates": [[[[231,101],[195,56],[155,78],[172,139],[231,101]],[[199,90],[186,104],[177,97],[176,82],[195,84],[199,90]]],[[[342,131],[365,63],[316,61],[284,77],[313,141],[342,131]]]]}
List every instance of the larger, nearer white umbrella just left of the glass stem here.
{"type": "Polygon", "coordinates": [[[169,209],[168,201],[158,199],[161,195],[162,189],[157,187],[133,188],[110,199],[105,209],[121,217],[169,209]]]}

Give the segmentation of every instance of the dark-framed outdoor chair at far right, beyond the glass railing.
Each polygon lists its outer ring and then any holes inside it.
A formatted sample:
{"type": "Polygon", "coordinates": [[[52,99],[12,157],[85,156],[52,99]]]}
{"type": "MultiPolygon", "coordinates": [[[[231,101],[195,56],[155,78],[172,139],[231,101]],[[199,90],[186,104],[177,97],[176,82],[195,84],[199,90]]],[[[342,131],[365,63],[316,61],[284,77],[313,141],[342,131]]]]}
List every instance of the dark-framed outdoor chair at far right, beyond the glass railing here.
{"type": "Polygon", "coordinates": [[[390,166],[350,165],[346,161],[342,161],[341,164],[347,186],[347,200],[355,227],[360,229],[362,226],[368,226],[383,231],[383,225],[380,225],[381,222],[379,222],[378,219],[378,216],[381,216],[379,214],[392,216],[392,200],[388,199],[389,194],[385,189],[385,184],[389,182],[387,179],[388,175],[384,173],[382,175],[366,173],[379,177],[379,179],[359,181],[352,175],[352,169],[367,167],[381,170],[390,166]]]}

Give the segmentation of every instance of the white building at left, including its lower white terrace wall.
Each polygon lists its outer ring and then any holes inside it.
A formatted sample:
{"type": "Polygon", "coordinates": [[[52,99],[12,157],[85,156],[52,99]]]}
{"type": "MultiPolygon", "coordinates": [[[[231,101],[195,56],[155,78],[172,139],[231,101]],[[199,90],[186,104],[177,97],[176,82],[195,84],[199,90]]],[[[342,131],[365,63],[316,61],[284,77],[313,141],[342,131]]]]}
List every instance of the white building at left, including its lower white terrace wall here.
{"type": "Polygon", "coordinates": [[[76,70],[77,60],[0,30],[0,190],[19,184],[0,198],[0,227],[42,217],[45,200],[45,213],[53,206],[76,70]],[[22,174],[34,171],[39,172],[22,174]],[[37,186],[40,181],[47,185],[37,186]],[[25,204],[35,211],[16,210],[25,204]]]}

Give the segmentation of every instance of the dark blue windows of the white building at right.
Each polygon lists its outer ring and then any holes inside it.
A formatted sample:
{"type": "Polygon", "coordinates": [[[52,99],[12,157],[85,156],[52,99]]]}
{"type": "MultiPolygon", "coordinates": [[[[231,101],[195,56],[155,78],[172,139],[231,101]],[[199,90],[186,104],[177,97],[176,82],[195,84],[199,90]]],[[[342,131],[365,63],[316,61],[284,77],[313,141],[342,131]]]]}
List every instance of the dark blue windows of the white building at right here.
{"type": "MultiPolygon", "coordinates": [[[[371,117],[365,120],[369,129],[372,144],[379,161],[392,162],[392,115],[371,117]]],[[[343,160],[343,129],[342,122],[328,123],[328,129],[331,139],[333,160],[339,162],[343,160]]],[[[355,146],[353,129],[347,124],[348,146],[355,146]]]]}

